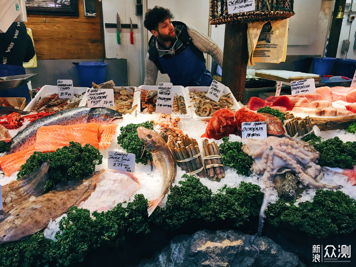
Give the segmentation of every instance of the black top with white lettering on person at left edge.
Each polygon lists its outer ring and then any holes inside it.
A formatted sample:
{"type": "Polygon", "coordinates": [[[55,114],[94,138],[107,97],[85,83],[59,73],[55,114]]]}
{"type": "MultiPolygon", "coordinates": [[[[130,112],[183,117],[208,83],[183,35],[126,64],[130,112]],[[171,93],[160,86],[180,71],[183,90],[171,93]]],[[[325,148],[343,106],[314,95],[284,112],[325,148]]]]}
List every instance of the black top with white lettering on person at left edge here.
{"type": "Polygon", "coordinates": [[[6,33],[0,33],[0,64],[22,66],[34,56],[35,48],[23,22],[14,22],[6,33]]]}

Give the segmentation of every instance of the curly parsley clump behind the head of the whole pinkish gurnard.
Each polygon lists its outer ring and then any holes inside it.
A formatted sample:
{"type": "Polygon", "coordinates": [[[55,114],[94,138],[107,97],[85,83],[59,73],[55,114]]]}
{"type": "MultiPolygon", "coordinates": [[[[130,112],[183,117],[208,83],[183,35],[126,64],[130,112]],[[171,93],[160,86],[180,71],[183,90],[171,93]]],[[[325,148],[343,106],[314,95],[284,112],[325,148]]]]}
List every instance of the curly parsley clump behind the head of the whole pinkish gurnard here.
{"type": "Polygon", "coordinates": [[[140,124],[128,124],[121,127],[121,134],[118,136],[118,144],[126,149],[129,153],[136,155],[136,163],[147,164],[148,160],[152,160],[152,154],[144,149],[144,142],[138,138],[137,128],[144,127],[153,130],[153,122],[144,122],[140,124]]]}

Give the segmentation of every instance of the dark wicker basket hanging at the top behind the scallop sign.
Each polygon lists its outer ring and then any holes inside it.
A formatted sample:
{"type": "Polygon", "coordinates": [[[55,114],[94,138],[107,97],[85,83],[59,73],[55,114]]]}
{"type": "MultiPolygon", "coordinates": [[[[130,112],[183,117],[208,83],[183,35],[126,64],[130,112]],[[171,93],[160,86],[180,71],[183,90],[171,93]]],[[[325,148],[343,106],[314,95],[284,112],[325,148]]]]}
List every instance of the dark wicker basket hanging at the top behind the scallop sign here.
{"type": "Polygon", "coordinates": [[[294,15],[293,0],[255,0],[255,11],[228,14],[227,0],[210,0],[210,24],[270,21],[294,15]]]}

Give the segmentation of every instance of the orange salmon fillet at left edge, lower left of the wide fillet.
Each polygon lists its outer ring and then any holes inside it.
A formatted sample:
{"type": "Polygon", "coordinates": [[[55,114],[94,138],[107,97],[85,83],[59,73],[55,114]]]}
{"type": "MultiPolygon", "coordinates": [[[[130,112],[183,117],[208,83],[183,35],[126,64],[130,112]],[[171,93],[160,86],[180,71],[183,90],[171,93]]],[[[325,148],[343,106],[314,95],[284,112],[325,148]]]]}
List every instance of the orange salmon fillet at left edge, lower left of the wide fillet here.
{"type": "Polygon", "coordinates": [[[35,145],[31,145],[29,148],[15,152],[9,155],[5,155],[0,158],[0,168],[5,176],[9,177],[14,172],[20,171],[26,160],[34,153],[35,145]]]}

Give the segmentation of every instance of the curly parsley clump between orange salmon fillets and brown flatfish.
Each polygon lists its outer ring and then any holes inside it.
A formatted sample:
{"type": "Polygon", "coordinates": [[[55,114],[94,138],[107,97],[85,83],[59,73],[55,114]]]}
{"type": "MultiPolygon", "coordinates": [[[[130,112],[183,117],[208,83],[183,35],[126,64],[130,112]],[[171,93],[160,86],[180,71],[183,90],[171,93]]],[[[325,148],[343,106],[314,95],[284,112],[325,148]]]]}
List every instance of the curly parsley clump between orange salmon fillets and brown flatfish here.
{"type": "Polygon", "coordinates": [[[47,190],[62,181],[85,178],[95,171],[96,164],[102,163],[102,155],[97,148],[90,144],[82,146],[78,142],[69,143],[69,146],[58,148],[55,152],[34,152],[21,166],[17,178],[32,173],[49,160],[49,179],[45,184],[47,190]]]}

